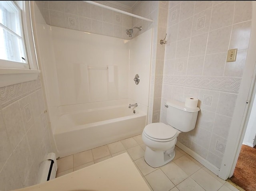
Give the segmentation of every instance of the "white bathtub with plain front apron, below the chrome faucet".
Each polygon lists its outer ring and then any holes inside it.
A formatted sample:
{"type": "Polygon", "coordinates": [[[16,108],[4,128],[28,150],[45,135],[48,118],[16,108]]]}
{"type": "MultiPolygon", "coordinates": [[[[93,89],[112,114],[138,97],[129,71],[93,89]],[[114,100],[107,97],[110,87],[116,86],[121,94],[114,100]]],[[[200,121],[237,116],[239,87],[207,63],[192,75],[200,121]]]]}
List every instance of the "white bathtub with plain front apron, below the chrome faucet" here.
{"type": "Polygon", "coordinates": [[[54,131],[58,157],[136,136],[142,133],[145,125],[146,113],[128,106],[63,114],[54,131]]]}

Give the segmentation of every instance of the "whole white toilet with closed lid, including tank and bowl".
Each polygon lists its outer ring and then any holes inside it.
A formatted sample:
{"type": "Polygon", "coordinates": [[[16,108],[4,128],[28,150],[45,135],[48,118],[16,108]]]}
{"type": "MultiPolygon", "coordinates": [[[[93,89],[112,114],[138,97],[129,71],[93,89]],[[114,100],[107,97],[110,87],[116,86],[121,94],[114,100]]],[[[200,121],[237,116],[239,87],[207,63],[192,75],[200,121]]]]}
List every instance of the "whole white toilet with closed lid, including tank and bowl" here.
{"type": "Polygon", "coordinates": [[[200,108],[188,108],[184,102],[168,100],[165,104],[166,122],[145,126],[142,140],[146,144],[144,159],[151,167],[160,167],[175,157],[174,147],[181,132],[189,132],[196,126],[200,108]]]}

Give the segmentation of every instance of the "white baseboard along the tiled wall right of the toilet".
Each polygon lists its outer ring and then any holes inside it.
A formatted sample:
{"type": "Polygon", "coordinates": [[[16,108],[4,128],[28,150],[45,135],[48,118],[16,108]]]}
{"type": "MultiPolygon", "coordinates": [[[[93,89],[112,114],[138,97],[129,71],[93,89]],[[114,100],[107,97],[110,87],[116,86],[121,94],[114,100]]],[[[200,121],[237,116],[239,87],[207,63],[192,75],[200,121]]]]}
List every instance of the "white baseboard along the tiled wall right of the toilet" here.
{"type": "Polygon", "coordinates": [[[208,160],[202,158],[200,155],[198,155],[196,152],[192,151],[190,148],[186,147],[181,142],[177,141],[176,146],[186,152],[188,155],[192,156],[194,159],[196,159],[198,162],[200,162],[202,165],[204,165],[207,169],[212,171],[217,176],[219,175],[220,169],[216,166],[214,166],[212,163],[210,163],[208,160]]]}

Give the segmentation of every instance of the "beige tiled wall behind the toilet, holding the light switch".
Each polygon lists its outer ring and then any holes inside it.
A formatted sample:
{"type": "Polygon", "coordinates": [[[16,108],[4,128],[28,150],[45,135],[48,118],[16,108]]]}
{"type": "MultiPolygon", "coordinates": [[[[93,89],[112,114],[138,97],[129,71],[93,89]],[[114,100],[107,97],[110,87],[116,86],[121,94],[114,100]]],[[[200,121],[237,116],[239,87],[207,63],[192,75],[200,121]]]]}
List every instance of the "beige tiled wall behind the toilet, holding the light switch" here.
{"type": "Polygon", "coordinates": [[[166,119],[166,100],[198,98],[196,128],[178,141],[218,168],[232,130],[251,16],[251,1],[169,2],[160,121],[166,119]],[[236,61],[226,62],[228,49],[234,48],[236,61]]]}

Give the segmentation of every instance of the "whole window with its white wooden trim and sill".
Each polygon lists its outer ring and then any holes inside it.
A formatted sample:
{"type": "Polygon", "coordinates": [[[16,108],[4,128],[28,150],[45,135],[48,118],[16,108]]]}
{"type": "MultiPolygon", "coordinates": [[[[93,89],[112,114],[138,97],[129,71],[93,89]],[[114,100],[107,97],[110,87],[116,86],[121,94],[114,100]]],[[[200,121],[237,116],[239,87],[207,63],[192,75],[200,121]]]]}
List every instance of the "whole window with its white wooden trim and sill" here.
{"type": "Polygon", "coordinates": [[[0,1],[0,87],[36,80],[30,1],[0,1]]]}

